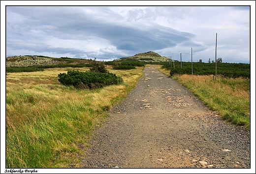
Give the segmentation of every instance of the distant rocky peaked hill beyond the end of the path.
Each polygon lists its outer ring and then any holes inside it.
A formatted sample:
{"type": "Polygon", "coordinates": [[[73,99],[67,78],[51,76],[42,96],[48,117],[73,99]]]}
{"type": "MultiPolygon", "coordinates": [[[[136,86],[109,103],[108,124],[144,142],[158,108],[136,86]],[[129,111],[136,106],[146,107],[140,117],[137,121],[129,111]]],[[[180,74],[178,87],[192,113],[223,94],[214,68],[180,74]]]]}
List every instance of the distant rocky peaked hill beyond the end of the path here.
{"type": "Polygon", "coordinates": [[[128,59],[135,59],[144,62],[165,62],[169,61],[169,59],[165,56],[161,56],[160,54],[154,51],[148,51],[144,53],[138,53],[131,57],[123,57],[120,60],[128,60],[128,59]]]}

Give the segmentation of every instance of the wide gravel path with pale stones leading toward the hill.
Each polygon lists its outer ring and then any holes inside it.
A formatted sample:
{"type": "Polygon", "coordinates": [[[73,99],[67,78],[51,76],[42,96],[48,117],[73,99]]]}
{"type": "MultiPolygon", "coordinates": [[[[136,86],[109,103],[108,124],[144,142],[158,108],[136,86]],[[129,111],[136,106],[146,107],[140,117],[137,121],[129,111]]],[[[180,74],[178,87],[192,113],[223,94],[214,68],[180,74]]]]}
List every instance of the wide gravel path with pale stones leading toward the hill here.
{"type": "Polygon", "coordinates": [[[155,66],[143,73],[93,132],[84,168],[250,168],[250,131],[222,121],[155,66]]]}

